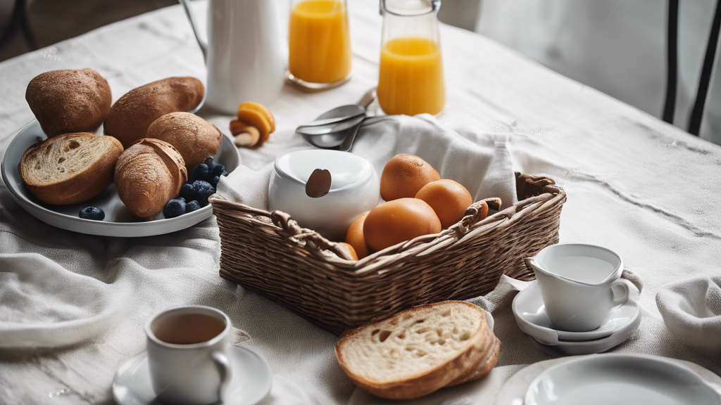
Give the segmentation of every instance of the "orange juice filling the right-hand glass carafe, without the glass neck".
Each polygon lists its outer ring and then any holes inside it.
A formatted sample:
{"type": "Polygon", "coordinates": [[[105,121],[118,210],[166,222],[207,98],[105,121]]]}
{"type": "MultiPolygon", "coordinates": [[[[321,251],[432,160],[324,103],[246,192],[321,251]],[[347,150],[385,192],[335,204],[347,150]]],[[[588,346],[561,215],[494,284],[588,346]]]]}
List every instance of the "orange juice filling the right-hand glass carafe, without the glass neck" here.
{"type": "Polygon", "coordinates": [[[398,37],[381,50],[378,102],[386,114],[438,114],[446,105],[441,47],[430,38],[398,37]]]}

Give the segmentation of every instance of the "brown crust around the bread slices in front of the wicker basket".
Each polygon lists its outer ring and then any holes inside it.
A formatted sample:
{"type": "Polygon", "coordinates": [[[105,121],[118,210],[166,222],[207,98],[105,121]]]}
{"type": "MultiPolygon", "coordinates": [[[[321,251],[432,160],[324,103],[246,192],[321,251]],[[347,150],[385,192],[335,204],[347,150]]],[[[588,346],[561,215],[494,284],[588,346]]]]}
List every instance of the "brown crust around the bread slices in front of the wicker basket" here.
{"type": "MultiPolygon", "coordinates": [[[[397,313],[395,316],[392,316],[392,318],[400,318],[404,314],[419,311],[421,308],[444,306],[448,303],[461,304],[472,307],[474,308],[474,310],[478,311],[479,316],[482,317],[482,324],[480,326],[480,328],[482,329],[482,333],[477,333],[472,336],[472,339],[474,340],[469,345],[469,347],[466,348],[466,350],[464,350],[463,352],[459,352],[456,357],[448,360],[448,362],[442,365],[438,365],[438,367],[434,368],[433,370],[429,370],[427,372],[419,373],[416,375],[411,375],[402,380],[384,382],[364,378],[361,375],[356,375],[355,373],[353,373],[352,370],[350,370],[350,368],[348,368],[348,365],[346,364],[343,356],[342,347],[346,342],[353,338],[355,334],[358,334],[365,329],[373,328],[374,326],[376,326],[376,324],[386,321],[387,319],[383,321],[376,321],[371,324],[361,326],[358,329],[353,329],[352,331],[346,332],[340,337],[340,339],[335,345],[335,355],[346,375],[348,375],[348,378],[350,378],[350,380],[352,380],[356,386],[363,388],[369,393],[372,393],[373,395],[379,396],[381,398],[415,399],[419,398],[420,396],[425,396],[429,393],[437,391],[439,388],[447,386],[454,380],[460,380],[461,378],[464,378],[464,376],[467,375],[469,371],[476,370],[479,364],[481,364],[484,360],[489,359],[489,352],[493,350],[495,342],[497,342],[497,339],[495,339],[492,331],[490,331],[490,328],[486,323],[485,313],[481,308],[478,308],[477,306],[474,306],[471,303],[466,303],[464,301],[443,301],[441,303],[433,303],[427,306],[410,308],[397,313]],[[492,339],[490,339],[490,337],[492,337],[492,339]]],[[[488,363],[490,364],[491,361],[489,361],[488,363]]],[[[492,364],[495,365],[495,361],[492,361],[492,364]]]]}

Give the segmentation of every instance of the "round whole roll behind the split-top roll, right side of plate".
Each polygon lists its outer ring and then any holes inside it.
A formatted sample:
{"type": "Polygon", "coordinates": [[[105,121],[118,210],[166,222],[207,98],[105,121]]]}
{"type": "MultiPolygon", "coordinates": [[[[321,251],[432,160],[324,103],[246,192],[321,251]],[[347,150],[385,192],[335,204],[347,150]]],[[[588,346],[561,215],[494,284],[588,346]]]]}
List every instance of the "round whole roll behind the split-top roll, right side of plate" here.
{"type": "Polygon", "coordinates": [[[187,172],[193,172],[208,156],[216,156],[223,132],[198,115],[171,112],[155,120],[148,128],[147,138],[156,138],[174,146],[185,160],[187,172]]]}

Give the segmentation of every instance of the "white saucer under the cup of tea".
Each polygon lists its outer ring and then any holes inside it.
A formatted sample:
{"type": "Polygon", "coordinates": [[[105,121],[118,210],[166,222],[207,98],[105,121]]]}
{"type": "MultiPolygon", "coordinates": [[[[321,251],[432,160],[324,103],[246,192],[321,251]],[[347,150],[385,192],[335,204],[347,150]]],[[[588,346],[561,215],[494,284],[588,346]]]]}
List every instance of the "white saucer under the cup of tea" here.
{"type": "MultiPolygon", "coordinates": [[[[270,392],[272,374],[265,360],[243,347],[229,347],[228,357],[233,368],[233,380],[221,404],[254,405],[270,392]]],[[[112,398],[118,405],[149,405],[155,392],[150,381],[148,352],[125,362],[112,381],[112,398]]]]}

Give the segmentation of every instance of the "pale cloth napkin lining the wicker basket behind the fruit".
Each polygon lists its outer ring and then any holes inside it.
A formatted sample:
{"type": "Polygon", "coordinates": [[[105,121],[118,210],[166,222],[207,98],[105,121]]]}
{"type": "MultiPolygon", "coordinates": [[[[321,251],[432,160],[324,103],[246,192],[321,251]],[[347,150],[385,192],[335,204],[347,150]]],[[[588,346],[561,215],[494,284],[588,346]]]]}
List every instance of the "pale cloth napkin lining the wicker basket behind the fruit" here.
{"type": "MultiPolygon", "coordinates": [[[[463,184],[474,201],[500,197],[503,208],[508,208],[517,200],[506,136],[466,131],[461,135],[430,115],[373,117],[358,131],[352,152],[370,161],[379,176],[386,162],[399,153],[420,156],[438,170],[441,178],[463,184]]],[[[219,194],[267,209],[267,187],[275,158],[288,151],[312,148],[301,135],[289,131],[273,134],[273,138],[278,143],[265,143],[255,153],[241,152],[242,165],[221,179],[219,194]]]]}

